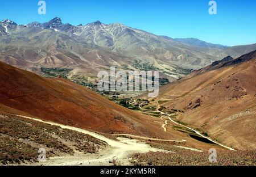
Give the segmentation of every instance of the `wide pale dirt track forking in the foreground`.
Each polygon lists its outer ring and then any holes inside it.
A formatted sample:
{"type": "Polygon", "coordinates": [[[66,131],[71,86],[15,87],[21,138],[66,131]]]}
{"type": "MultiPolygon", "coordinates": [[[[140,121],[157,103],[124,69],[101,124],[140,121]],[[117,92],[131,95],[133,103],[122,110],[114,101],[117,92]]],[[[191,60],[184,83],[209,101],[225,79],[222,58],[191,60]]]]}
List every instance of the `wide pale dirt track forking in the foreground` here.
{"type": "MultiPolygon", "coordinates": [[[[129,155],[133,153],[147,153],[149,151],[164,151],[169,152],[167,150],[157,149],[154,147],[151,147],[150,145],[144,144],[142,142],[138,142],[138,140],[129,140],[127,138],[118,138],[119,141],[111,140],[107,137],[104,137],[100,134],[89,132],[88,130],[71,127],[67,125],[62,125],[58,123],[52,123],[48,121],[43,121],[40,119],[35,119],[32,117],[27,116],[20,116],[26,119],[39,121],[41,123],[46,123],[50,125],[56,125],[63,129],[69,129],[69,130],[75,130],[80,133],[88,134],[94,138],[97,138],[99,140],[105,141],[110,147],[106,150],[102,150],[98,154],[92,154],[92,155],[86,155],[86,154],[78,154],[78,155],[67,155],[65,157],[54,157],[49,158],[47,162],[40,163],[40,165],[47,165],[47,166],[61,166],[61,165],[110,165],[110,162],[117,158],[119,162],[125,165],[129,165],[129,155]]],[[[142,138],[142,137],[140,137],[142,138]]]]}

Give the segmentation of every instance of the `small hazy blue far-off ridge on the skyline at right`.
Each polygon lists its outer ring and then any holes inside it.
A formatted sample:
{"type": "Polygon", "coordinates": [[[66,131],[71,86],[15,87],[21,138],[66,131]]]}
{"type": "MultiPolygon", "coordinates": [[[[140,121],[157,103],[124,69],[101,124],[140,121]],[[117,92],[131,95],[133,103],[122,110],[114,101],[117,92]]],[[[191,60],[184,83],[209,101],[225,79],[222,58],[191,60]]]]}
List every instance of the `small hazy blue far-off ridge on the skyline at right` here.
{"type": "Polygon", "coordinates": [[[221,44],[212,44],[207,43],[205,41],[196,39],[196,38],[175,38],[175,41],[179,41],[181,43],[189,44],[189,45],[196,45],[199,47],[205,47],[205,48],[216,48],[216,49],[226,49],[229,48],[228,46],[221,45],[221,44]]]}

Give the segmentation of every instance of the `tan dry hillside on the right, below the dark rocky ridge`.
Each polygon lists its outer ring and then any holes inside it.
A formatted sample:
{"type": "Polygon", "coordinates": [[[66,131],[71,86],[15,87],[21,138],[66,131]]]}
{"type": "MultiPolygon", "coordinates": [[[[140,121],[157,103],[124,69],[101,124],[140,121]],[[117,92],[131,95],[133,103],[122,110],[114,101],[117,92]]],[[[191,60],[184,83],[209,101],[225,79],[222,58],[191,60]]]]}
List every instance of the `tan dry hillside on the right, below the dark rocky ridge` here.
{"type": "Polygon", "coordinates": [[[256,55],[241,64],[187,78],[160,89],[163,105],[183,109],[178,119],[236,149],[256,148],[256,55]]]}

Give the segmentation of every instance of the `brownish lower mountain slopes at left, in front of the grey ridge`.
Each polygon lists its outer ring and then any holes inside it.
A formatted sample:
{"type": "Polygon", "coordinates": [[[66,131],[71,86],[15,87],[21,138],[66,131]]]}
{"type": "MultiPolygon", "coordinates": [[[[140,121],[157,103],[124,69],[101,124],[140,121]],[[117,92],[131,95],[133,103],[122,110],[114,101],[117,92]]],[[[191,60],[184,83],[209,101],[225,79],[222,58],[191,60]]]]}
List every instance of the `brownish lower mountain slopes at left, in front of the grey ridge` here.
{"type": "Polygon", "coordinates": [[[39,27],[17,26],[9,36],[0,37],[0,51],[4,56],[1,61],[36,73],[41,67],[71,68],[97,77],[98,71],[113,65],[134,69],[132,58],[86,43],[79,37],[39,27]]]}

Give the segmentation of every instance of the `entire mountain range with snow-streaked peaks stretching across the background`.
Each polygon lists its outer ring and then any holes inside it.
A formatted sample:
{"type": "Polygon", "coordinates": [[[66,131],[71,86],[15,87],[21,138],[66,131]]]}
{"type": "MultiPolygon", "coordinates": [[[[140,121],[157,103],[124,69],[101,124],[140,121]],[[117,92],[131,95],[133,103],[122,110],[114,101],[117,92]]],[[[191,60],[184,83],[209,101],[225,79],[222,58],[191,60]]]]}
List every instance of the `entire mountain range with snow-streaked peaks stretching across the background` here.
{"type": "Polygon", "coordinates": [[[47,23],[0,23],[0,52],[4,62],[40,73],[40,68],[72,68],[88,77],[116,66],[122,70],[159,70],[174,81],[216,60],[239,57],[256,44],[225,47],[197,39],[172,39],[121,23],[100,21],[79,26],[60,18],[47,23]]]}

